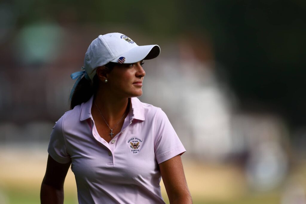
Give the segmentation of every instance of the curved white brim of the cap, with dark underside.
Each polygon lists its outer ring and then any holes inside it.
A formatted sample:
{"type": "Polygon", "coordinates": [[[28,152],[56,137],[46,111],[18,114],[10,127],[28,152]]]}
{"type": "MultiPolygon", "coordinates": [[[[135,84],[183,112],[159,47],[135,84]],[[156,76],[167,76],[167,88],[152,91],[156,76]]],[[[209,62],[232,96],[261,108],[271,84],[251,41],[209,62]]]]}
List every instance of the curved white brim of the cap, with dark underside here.
{"type": "Polygon", "coordinates": [[[160,47],[158,45],[144,45],[136,46],[131,50],[125,52],[119,57],[115,58],[112,62],[117,62],[120,57],[125,57],[124,64],[131,64],[141,60],[153,59],[160,54],[160,47]]]}

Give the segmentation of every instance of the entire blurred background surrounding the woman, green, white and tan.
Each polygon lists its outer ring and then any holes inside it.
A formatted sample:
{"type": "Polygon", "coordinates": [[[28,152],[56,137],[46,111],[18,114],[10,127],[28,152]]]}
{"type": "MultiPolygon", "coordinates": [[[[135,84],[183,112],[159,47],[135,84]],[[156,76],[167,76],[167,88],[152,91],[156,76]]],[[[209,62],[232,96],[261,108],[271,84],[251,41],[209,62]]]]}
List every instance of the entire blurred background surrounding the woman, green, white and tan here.
{"type": "MultiPolygon", "coordinates": [[[[39,203],[47,145],[88,45],[158,44],[142,102],[187,152],[194,203],[306,203],[306,2],[0,2],[0,203],[39,203]]],[[[165,201],[167,196],[162,185],[165,201]]],[[[65,203],[77,203],[73,172],[65,203]]]]}

